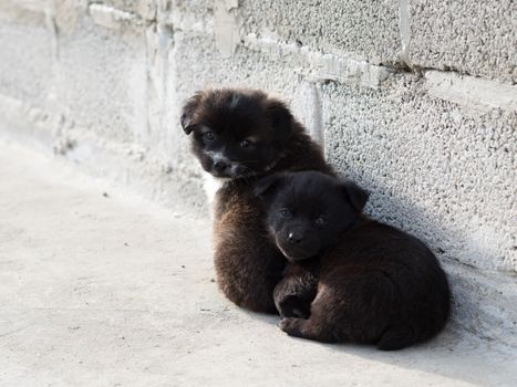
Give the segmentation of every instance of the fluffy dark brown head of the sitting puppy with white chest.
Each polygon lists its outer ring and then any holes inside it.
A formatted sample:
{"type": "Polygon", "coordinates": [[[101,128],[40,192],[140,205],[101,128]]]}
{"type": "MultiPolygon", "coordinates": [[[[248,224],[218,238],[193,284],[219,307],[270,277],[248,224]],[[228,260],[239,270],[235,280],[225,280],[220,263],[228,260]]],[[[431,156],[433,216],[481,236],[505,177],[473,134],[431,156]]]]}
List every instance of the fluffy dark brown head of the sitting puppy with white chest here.
{"type": "Polygon", "coordinates": [[[282,156],[292,115],[262,93],[232,90],[203,92],[182,113],[182,127],[203,168],[220,178],[267,172],[282,156]]]}

